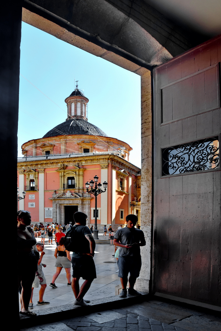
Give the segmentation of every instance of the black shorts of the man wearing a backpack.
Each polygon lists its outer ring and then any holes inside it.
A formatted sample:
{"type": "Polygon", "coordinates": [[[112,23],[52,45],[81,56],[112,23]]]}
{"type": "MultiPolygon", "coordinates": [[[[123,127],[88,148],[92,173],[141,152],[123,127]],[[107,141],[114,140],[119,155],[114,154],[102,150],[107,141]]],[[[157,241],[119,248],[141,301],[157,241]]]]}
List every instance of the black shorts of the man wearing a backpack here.
{"type": "Polygon", "coordinates": [[[81,258],[71,259],[73,278],[94,279],[97,278],[95,264],[92,256],[83,255],[81,258]]]}

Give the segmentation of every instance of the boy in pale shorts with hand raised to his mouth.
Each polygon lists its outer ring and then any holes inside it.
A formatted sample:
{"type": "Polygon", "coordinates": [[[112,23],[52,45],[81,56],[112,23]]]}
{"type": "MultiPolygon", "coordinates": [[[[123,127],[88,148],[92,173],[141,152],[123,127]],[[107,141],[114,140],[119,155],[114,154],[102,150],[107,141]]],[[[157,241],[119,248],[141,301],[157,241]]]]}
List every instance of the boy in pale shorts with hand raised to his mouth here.
{"type": "Polygon", "coordinates": [[[32,297],[33,297],[33,290],[34,288],[38,288],[39,285],[41,286],[40,290],[39,290],[39,301],[37,301],[37,306],[41,306],[41,305],[49,305],[50,302],[44,301],[43,300],[43,295],[44,295],[44,291],[46,289],[46,279],[44,276],[44,273],[42,271],[42,266],[45,268],[46,264],[42,264],[42,258],[44,256],[44,245],[37,243],[36,244],[36,250],[34,250],[34,254],[36,255],[36,257],[38,258],[38,269],[36,271],[36,275],[35,275],[35,279],[33,281],[32,284],[32,288],[31,288],[31,299],[30,299],[30,303],[28,306],[28,309],[33,309],[33,302],[32,302],[32,297]],[[41,252],[41,256],[39,255],[39,252],[41,252]]]}

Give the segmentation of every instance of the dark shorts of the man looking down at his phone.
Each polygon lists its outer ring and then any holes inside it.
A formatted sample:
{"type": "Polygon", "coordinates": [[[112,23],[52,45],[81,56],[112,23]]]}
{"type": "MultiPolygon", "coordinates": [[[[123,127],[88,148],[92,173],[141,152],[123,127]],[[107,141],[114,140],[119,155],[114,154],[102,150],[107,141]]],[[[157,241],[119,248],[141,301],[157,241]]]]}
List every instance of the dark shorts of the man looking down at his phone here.
{"type": "Polygon", "coordinates": [[[132,277],[138,278],[141,268],[141,257],[120,256],[117,265],[119,269],[118,277],[126,278],[130,272],[132,277]]]}

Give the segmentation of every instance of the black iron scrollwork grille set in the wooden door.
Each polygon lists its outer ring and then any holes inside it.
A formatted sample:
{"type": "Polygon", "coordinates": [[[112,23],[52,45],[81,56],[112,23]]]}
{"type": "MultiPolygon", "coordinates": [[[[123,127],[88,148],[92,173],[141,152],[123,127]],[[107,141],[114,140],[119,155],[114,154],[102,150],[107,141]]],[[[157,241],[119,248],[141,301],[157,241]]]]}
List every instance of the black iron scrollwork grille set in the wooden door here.
{"type": "Polygon", "coordinates": [[[219,168],[218,136],[162,149],[162,176],[219,168]]]}

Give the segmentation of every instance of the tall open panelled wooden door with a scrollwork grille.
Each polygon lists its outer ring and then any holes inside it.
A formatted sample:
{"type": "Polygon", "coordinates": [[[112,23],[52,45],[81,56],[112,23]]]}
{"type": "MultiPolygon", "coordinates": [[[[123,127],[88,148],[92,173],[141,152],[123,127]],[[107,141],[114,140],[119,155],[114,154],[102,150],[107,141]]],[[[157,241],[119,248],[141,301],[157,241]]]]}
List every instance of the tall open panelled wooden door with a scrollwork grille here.
{"type": "Polygon", "coordinates": [[[153,72],[153,292],[220,305],[221,36],[153,72]]]}

